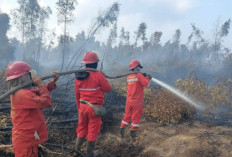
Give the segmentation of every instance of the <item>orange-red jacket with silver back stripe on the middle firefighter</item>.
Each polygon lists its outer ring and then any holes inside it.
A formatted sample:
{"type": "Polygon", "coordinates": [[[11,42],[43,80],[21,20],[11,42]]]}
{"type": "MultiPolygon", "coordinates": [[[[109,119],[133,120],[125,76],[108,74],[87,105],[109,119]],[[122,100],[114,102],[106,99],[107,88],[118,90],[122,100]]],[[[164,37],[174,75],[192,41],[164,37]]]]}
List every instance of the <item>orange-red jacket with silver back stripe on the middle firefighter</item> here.
{"type": "Polygon", "coordinates": [[[80,108],[80,99],[90,103],[104,104],[103,92],[110,91],[110,84],[101,72],[89,71],[89,77],[84,80],[75,79],[75,95],[77,108],[80,108]]]}

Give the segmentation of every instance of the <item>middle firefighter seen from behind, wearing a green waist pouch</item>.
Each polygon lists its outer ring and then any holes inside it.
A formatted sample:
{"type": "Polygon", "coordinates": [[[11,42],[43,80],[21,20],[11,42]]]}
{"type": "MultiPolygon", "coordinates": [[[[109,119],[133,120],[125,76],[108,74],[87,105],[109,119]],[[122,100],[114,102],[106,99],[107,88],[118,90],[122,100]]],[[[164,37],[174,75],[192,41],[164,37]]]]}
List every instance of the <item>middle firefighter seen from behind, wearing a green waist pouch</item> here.
{"type": "MultiPolygon", "coordinates": [[[[95,52],[87,52],[82,60],[86,68],[97,69],[98,56],[95,52]]],[[[101,72],[87,71],[76,74],[75,95],[79,114],[78,126],[76,129],[76,150],[87,139],[87,156],[93,156],[95,141],[100,132],[102,121],[101,116],[96,115],[93,107],[101,108],[104,104],[103,92],[109,92],[110,84],[101,72]]]]}

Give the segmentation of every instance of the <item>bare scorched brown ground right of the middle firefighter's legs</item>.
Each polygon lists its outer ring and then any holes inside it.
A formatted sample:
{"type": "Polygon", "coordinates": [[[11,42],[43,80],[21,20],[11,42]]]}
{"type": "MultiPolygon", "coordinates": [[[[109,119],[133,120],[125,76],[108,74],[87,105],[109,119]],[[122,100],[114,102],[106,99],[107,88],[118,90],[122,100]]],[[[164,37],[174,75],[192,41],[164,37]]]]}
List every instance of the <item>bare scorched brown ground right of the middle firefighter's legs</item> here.
{"type": "MultiPolygon", "coordinates": [[[[119,114],[122,117],[123,114],[119,114]]],[[[119,120],[120,123],[120,120],[119,120]]],[[[100,156],[147,157],[229,157],[232,156],[232,127],[202,120],[175,125],[159,125],[143,117],[137,142],[117,137],[118,126],[99,137],[100,156]]]]}

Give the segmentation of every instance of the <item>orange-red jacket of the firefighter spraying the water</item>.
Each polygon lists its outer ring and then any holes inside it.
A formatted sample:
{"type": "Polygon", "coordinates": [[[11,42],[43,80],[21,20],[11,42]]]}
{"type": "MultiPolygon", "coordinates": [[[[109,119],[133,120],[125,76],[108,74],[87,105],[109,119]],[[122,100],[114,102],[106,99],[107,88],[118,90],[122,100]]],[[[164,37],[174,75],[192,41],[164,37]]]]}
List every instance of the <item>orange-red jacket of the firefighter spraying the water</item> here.
{"type": "Polygon", "coordinates": [[[127,77],[127,102],[143,102],[143,88],[148,87],[150,80],[143,74],[131,74],[127,77]]]}

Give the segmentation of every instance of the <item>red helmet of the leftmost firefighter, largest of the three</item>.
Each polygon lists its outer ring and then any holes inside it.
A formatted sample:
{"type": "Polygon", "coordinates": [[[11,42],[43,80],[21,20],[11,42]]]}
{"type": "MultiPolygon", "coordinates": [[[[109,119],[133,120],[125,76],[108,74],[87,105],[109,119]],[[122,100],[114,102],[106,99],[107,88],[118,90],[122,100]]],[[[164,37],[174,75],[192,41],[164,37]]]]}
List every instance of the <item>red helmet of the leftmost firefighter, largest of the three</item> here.
{"type": "Polygon", "coordinates": [[[10,63],[6,68],[6,81],[13,80],[30,72],[31,67],[22,61],[10,63]]]}

